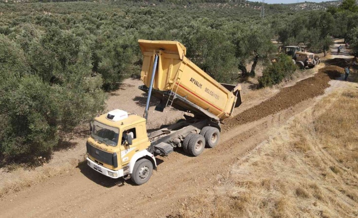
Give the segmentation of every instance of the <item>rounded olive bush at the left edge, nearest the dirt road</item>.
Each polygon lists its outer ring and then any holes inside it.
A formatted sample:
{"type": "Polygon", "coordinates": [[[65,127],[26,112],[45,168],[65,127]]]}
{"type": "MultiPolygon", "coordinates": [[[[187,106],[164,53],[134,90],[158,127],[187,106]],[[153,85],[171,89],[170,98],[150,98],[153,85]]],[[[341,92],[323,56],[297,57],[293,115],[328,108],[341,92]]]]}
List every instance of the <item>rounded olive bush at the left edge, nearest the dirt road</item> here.
{"type": "Polygon", "coordinates": [[[1,152],[7,158],[44,154],[56,145],[59,108],[37,75],[12,77],[0,86],[1,152]]]}

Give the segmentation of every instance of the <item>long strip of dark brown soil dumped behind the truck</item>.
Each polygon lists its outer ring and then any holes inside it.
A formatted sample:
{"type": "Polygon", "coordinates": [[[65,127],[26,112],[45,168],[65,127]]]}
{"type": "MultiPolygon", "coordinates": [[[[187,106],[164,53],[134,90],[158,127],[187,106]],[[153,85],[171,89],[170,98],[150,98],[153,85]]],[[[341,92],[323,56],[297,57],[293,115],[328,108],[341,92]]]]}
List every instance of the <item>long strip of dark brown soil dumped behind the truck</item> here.
{"type": "Polygon", "coordinates": [[[281,110],[288,109],[302,101],[323,95],[330,86],[331,79],[340,77],[344,70],[337,66],[328,66],[318,70],[318,73],[295,85],[283,88],[274,97],[234,116],[223,125],[223,132],[232,127],[253,122],[281,110]]]}

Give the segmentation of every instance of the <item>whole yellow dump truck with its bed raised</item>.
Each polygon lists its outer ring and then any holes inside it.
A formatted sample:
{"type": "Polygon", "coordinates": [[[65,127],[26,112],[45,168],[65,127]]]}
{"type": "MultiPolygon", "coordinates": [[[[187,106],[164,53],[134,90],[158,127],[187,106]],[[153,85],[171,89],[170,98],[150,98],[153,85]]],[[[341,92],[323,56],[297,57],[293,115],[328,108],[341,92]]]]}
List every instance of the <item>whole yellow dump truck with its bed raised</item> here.
{"type": "Polygon", "coordinates": [[[192,156],[220,140],[221,122],[241,104],[240,85],[221,84],[191,62],[186,48],[177,41],[139,40],[144,56],[139,89],[148,93],[144,117],[113,110],[90,123],[87,164],[111,178],[146,183],[154,168],[155,155],[168,155],[181,147],[192,156]],[[156,110],[165,107],[190,112],[168,127],[147,132],[151,96],[160,99],[156,110]]]}

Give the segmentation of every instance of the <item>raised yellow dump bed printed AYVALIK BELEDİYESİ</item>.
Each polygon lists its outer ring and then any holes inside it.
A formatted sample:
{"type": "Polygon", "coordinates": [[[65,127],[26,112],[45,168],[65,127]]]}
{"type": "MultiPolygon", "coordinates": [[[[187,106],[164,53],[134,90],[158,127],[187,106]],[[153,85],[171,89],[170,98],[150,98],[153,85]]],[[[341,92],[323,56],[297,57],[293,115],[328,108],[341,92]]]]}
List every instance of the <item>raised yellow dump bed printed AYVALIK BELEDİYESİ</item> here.
{"type": "Polygon", "coordinates": [[[153,95],[161,100],[156,110],[172,107],[197,116],[224,120],[241,104],[240,85],[221,84],[201,70],[186,55],[186,48],[177,41],[138,40],[144,56],[140,78],[148,92],[154,61],[158,55],[153,82],[153,95]]]}

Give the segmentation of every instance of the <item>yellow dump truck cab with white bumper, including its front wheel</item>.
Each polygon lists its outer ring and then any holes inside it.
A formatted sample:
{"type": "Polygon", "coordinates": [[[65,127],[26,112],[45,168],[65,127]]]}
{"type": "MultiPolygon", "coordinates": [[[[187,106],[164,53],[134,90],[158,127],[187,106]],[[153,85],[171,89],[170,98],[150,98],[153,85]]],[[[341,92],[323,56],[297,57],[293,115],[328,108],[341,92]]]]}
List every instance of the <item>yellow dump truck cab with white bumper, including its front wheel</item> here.
{"type": "MultiPolygon", "coordinates": [[[[120,178],[133,172],[136,166],[138,184],[149,180],[156,167],[154,155],[147,149],[151,143],[147,136],[146,119],[123,110],[113,110],[96,117],[90,123],[91,137],[87,139],[87,164],[111,178],[120,178]],[[146,161],[147,160],[147,161],[146,161]]],[[[133,176],[134,177],[134,176],[133,176]]]]}

